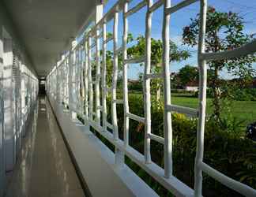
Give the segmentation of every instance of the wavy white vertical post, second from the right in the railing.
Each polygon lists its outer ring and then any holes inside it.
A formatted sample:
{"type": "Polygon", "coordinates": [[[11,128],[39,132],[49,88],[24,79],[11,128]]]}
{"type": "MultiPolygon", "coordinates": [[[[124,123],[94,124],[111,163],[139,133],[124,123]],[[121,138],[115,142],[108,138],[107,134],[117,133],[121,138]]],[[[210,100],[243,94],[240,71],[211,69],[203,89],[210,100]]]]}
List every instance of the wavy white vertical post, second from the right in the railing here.
{"type": "Polygon", "coordinates": [[[163,26],[163,72],[164,72],[164,176],[171,177],[172,174],[172,128],[171,111],[171,82],[169,71],[169,23],[170,14],[166,12],[171,7],[171,0],[164,0],[164,26],[163,26]]]}

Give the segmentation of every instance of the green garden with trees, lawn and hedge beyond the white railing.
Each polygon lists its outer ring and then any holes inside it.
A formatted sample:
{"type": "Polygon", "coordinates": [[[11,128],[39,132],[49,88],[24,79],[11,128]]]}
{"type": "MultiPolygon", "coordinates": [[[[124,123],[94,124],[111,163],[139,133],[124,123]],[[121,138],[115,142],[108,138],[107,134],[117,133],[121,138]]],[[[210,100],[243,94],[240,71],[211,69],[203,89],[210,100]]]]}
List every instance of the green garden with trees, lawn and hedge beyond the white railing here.
{"type": "MultiPolygon", "coordinates": [[[[198,45],[199,17],[190,20],[183,28],[183,45],[198,45]]],[[[209,7],[205,36],[205,51],[208,53],[232,50],[254,39],[243,32],[244,21],[238,13],[220,12],[209,7]]],[[[130,34],[129,57],[145,54],[145,37],[130,34]]],[[[152,38],[152,72],[162,72],[162,42],[152,38]]],[[[190,51],[180,49],[170,40],[170,63],[190,58],[190,51]]],[[[119,55],[118,99],[122,99],[122,53],[119,55]]],[[[111,87],[113,53],[107,51],[107,85],[111,87]]],[[[205,122],[204,162],[228,177],[239,180],[256,189],[256,142],[248,134],[248,125],[256,122],[256,55],[241,58],[209,61],[207,91],[207,121],[205,122]],[[232,78],[220,77],[227,72],[232,78]]],[[[143,65],[141,65],[143,66],[143,65]]],[[[92,73],[93,74],[93,73],[92,73]]],[[[199,69],[186,65],[179,72],[171,74],[171,103],[179,106],[198,108],[198,91],[186,91],[187,84],[198,84],[199,69]]],[[[152,133],[164,137],[164,102],[162,79],[151,81],[152,133]]],[[[128,81],[130,113],[144,117],[143,75],[128,81]]],[[[117,106],[119,137],[123,138],[123,106],[117,106]]],[[[107,95],[107,121],[111,122],[111,94],[107,95]]],[[[186,114],[172,113],[174,175],[190,188],[194,188],[194,158],[196,154],[197,118],[186,114]]],[[[256,126],[255,126],[256,127],[256,126]]],[[[256,129],[256,128],[255,128],[256,129]]],[[[114,151],[114,147],[100,134],[96,134],[114,151]]],[[[130,146],[143,154],[144,125],[130,120],[130,146]]],[[[151,142],[152,161],[164,167],[164,147],[151,142]]],[[[126,158],[126,164],[148,183],[160,196],[171,196],[149,174],[126,158]]],[[[204,176],[203,195],[240,196],[213,178],[204,176]]]]}

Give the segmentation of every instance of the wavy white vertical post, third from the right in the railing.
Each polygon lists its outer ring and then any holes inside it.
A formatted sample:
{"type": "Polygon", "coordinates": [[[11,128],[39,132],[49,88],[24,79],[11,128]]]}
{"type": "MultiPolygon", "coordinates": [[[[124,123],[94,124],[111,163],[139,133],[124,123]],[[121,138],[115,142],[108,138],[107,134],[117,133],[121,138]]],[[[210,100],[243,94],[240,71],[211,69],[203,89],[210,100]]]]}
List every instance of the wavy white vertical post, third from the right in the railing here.
{"type": "Polygon", "coordinates": [[[151,71],[151,25],[152,25],[152,13],[149,12],[149,7],[152,6],[152,0],[148,0],[148,10],[146,13],[146,25],[145,25],[145,69],[144,69],[144,108],[145,108],[145,162],[151,162],[150,154],[150,138],[151,133],[151,99],[150,99],[150,78],[146,77],[151,71]]]}

